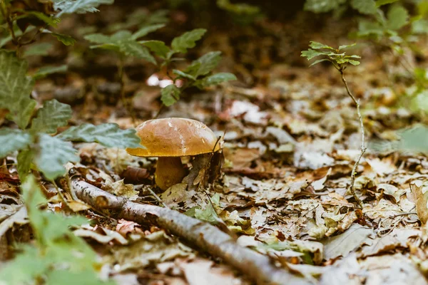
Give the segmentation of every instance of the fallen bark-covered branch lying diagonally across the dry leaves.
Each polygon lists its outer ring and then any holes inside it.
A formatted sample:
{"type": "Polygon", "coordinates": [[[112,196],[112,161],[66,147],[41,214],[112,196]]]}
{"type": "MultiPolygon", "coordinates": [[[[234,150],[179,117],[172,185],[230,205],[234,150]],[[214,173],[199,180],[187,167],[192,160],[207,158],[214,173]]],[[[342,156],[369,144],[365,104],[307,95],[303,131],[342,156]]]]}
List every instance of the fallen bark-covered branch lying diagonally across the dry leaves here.
{"type": "Polygon", "coordinates": [[[193,247],[220,257],[257,284],[310,284],[302,277],[277,268],[270,259],[240,247],[228,234],[212,225],[172,209],[138,204],[116,197],[81,180],[71,182],[76,196],[98,210],[108,209],[114,217],[141,224],[155,224],[185,240],[193,247]]]}

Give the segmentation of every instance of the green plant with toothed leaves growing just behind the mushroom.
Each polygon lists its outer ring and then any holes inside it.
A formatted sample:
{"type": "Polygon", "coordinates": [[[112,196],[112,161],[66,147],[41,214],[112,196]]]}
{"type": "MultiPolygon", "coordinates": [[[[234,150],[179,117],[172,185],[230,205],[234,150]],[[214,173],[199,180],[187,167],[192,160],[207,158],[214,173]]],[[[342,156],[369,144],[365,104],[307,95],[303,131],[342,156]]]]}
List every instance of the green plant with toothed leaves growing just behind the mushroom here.
{"type": "MultiPolygon", "coordinates": [[[[219,51],[206,53],[204,56],[190,63],[190,66],[183,71],[172,69],[170,67],[171,63],[182,60],[182,58],[176,58],[175,55],[178,53],[186,53],[189,48],[194,48],[196,41],[202,38],[206,30],[203,28],[196,28],[193,31],[183,33],[183,35],[173,38],[170,46],[167,46],[163,41],[139,40],[148,33],[156,31],[163,26],[163,24],[144,26],[135,33],[131,33],[130,31],[118,31],[111,36],[94,33],[85,36],[85,38],[92,43],[97,43],[97,45],[91,46],[91,48],[103,48],[115,51],[119,54],[121,58],[119,61],[119,77],[121,78],[122,86],[123,59],[126,56],[142,58],[160,66],[160,68],[167,68],[168,76],[173,79],[174,83],[178,79],[185,81],[180,88],[175,86],[175,84],[171,84],[161,90],[161,100],[165,106],[170,106],[177,102],[180,99],[180,94],[183,93],[183,90],[186,88],[195,86],[203,89],[208,86],[218,85],[225,81],[236,80],[236,77],[232,73],[211,74],[221,60],[221,53],[219,51]],[[156,59],[155,56],[158,59],[156,59]]],[[[123,93],[122,97],[123,100],[125,100],[123,93]]]]}

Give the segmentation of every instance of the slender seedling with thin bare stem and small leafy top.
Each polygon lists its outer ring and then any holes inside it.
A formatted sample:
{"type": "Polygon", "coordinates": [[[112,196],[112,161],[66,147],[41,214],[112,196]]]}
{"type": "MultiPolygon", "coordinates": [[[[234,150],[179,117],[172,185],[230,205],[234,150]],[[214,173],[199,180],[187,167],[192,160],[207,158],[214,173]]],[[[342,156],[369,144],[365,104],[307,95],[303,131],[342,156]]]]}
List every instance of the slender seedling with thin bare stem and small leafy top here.
{"type": "Polygon", "coordinates": [[[360,164],[361,157],[364,155],[367,149],[365,145],[365,128],[364,128],[364,123],[362,121],[362,116],[360,112],[360,100],[357,100],[355,96],[352,95],[350,88],[347,85],[347,81],[345,79],[345,69],[349,64],[351,64],[352,66],[359,65],[360,56],[357,56],[357,55],[347,56],[344,51],[347,48],[355,46],[355,43],[347,46],[339,46],[339,48],[332,48],[331,46],[327,46],[323,43],[317,43],[316,41],[311,41],[309,46],[310,48],[307,51],[302,51],[302,56],[307,58],[308,61],[311,60],[312,58],[316,58],[319,56],[322,57],[321,59],[314,61],[310,66],[313,66],[323,61],[330,61],[330,63],[332,63],[332,65],[337,69],[337,71],[339,71],[340,76],[342,78],[342,82],[346,88],[347,95],[349,95],[350,98],[352,98],[352,101],[354,101],[355,105],[357,106],[357,115],[358,115],[358,120],[360,121],[360,131],[361,131],[361,152],[359,157],[357,158],[357,161],[355,162],[354,167],[352,168],[350,192],[354,196],[358,204],[360,204],[360,207],[363,207],[360,197],[358,197],[357,193],[355,192],[354,183],[355,183],[355,175],[357,172],[357,167],[360,164]]]}

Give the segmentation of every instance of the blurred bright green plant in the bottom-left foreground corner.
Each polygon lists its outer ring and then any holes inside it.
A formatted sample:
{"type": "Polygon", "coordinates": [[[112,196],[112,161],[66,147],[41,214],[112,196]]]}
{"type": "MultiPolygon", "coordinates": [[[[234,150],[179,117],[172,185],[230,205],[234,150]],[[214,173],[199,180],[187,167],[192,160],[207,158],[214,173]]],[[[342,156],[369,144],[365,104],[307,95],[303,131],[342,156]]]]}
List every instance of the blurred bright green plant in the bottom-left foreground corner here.
{"type": "Polygon", "coordinates": [[[101,264],[96,253],[70,230],[87,224],[85,218],[40,209],[47,201],[32,175],[21,191],[36,242],[19,245],[14,260],[0,270],[0,284],[116,284],[98,278],[101,264]]]}

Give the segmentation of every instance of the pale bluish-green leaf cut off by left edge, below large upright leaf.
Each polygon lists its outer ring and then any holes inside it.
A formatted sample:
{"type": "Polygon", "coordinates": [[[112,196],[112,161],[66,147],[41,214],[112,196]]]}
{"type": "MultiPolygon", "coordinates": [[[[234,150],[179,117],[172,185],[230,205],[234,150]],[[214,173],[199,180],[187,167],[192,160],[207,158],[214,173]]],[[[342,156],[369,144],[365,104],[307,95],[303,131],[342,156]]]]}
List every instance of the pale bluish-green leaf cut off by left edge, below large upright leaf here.
{"type": "Polygon", "coordinates": [[[22,150],[31,144],[31,135],[24,130],[11,128],[0,129],[0,158],[11,152],[22,150]]]}

